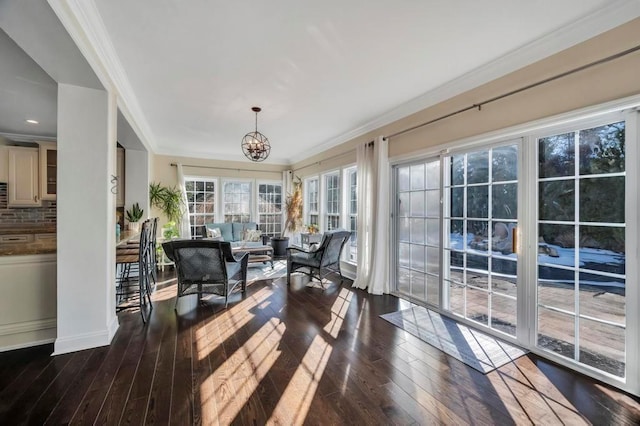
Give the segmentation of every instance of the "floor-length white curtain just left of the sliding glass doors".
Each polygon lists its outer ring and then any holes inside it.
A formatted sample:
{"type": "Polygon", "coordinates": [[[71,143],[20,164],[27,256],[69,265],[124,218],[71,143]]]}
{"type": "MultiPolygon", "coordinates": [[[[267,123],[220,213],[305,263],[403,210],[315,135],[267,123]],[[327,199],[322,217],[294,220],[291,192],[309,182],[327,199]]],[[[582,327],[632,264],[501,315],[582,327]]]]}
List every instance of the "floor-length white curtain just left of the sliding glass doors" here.
{"type": "Polygon", "coordinates": [[[383,137],[357,148],[358,275],[354,287],[389,293],[389,144],[383,137]]]}

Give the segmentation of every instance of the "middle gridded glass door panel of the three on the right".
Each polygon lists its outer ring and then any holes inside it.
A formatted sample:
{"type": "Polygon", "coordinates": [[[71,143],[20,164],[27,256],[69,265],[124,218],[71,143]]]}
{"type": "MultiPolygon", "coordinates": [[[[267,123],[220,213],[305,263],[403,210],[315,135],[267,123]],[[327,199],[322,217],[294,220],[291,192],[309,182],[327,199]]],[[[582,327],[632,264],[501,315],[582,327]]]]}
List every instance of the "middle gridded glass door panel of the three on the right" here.
{"type": "Polygon", "coordinates": [[[446,156],[444,308],[515,336],[518,145],[446,156]]]}

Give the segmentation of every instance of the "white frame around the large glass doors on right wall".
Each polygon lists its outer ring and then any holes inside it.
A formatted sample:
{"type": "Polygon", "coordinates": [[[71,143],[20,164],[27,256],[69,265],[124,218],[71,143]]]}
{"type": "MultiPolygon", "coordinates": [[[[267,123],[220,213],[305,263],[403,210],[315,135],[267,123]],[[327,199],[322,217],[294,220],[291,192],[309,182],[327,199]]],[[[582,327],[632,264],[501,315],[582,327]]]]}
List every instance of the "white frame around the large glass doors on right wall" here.
{"type": "MultiPolygon", "coordinates": [[[[589,368],[583,364],[567,361],[561,356],[540,350],[536,347],[536,317],[537,317],[537,286],[536,282],[537,244],[527,242],[537,241],[537,138],[563,131],[574,131],[597,127],[616,121],[626,121],[625,158],[625,241],[626,241],[626,280],[627,283],[637,283],[640,278],[640,262],[637,255],[640,241],[640,198],[638,194],[638,182],[640,180],[640,96],[633,96],[594,107],[584,108],[578,111],[537,120],[524,125],[514,126],[485,135],[475,136],[459,140],[446,145],[430,147],[421,152],[413,152],[404,156],[390,159],[390,164],[401,165],[415,160],[416,157],[429,159],[434,156],[442,156],[443,152],[470,151],[474,147],[497,144],[515,138],[523,138],[522,149],[519,153],[518,174],[520,191],[518,195],[518,333],[516,338],[499,334],[505,340],[526,347],[534,353],[549,358],[561,365],[595,377],[606,383],[624,389],[635,395],[640,395],[640,286],[626,286],[626,377],[619,378],[605,372],[589,368]],[[622,117],[622,118],[620,118],[622,117]],[[525,159],[527,160],[525,162],[525,159]],[[520,281],[521,280],[521,281],[520,281]]],[[[447,155],[449,155],[447,154],[447,155]]],[[[442,173],[445,173],[442,167],[442,173]]],[[[444,180],[443,180],[444,182],[444,180]]],[[[394,200],[395,197],[392,197],[394,200]]],[[[444,201],[446,202],[446,200],[444,201]]],[[[443,229],[443,233],[445,230],[443,229]]],[[[392,236],[397,241],[396,236],[392,236]]],[[[395,244],[395,243],[394,243],[395,244]]],[[[441,248],[442,250],[442,248],[441,248]]],[[[390,259],[391,263],[395,258],[390,259]]],[[[395,268],[395,265],[392,266],[395,268]]],[[[395,270],[395,269],[393,269],[395,270]]],[[[442,271],[442,264],[441,264],[442,271]]],[[[393,279],[393,278],[392,278],[393,279]]],[[[442,281],[441,281],[442,283],[442,281]]],[[[395,286],[395,283],[392,283],[395,286]]],[[[441,288],[442,284],[441,284],[441,288]]],[[[462,320],[462,322],[465,322],[462,320]]],[[[491,333],[491,330],[486,329],[491,333]]],[[[498,333],[492,333],[498,334],[498,333]]]]}

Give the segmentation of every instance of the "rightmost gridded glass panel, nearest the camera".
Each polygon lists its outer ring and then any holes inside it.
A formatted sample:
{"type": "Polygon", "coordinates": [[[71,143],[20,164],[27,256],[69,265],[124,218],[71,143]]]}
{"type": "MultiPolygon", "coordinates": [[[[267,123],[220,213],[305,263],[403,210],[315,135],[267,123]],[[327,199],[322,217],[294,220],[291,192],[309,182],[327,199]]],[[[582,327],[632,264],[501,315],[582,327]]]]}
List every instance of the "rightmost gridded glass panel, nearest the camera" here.
{"type": "Polygon", "coordinates": [[[537,145],[537,345],[624,377],[625,122],[537,145]]]}

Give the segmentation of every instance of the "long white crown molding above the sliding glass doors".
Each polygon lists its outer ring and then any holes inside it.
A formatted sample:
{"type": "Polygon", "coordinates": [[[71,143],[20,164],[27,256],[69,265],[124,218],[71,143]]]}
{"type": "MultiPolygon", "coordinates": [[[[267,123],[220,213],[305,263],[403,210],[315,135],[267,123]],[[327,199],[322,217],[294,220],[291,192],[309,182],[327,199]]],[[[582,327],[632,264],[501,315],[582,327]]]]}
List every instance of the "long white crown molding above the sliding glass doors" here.
{"type": "Polygon", "coordinates": [[[564,25],[530,43],[527,43],[500,58],[481,65],[433,90],[401,104],[381,116],[348,132],[306,150],[304,154],[292,157],[297,163],[318,155],[330,148],[372,132],[394,121],[422,111],[440,102],[451,99],[485,83],[493,81],[534,62],[575,46],[592,37],[611,30],[640,16],[640,1],[614,0],[606,6],[564,25]]]}

